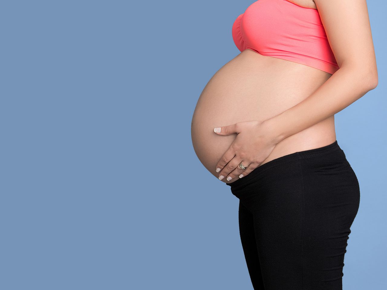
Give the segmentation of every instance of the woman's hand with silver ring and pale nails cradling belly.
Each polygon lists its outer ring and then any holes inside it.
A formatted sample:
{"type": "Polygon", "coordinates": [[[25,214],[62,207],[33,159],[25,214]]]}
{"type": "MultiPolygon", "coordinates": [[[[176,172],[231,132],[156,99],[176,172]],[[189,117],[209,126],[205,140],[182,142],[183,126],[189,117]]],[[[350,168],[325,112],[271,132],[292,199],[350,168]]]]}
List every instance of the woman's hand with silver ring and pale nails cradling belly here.
{"type": "Polygon", "coordinates": [[[214,128],[214,132],[218,135],[238,134],[216,165],[220,180],[225,176],[227,181],[246,176],[269,156],[278,143],[265,121],[239,122],[214,128]],[[247,169],[241,169],[241,162],[247,169]]]}

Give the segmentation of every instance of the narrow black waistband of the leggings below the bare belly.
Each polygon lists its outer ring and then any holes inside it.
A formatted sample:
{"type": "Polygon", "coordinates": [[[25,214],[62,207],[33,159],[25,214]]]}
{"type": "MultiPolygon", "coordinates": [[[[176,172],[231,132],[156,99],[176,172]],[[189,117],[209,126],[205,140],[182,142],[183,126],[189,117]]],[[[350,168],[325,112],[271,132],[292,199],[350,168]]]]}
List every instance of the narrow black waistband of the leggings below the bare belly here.
{"type": "Polygon", "coordinates": [[[306,158],[310,158],[310,157],[320,156],[320,155],[323,155],[323,154],[334,152],[336,150],[341,150],[342,151],[342,149],[340,148],[339,144],[337,143],[337,140],[335,140],[335,142],[333,142],[333,143],[331,143],[329,145],[323,146],[323,147],[309,149],[309,150],[304,150],[304,151],[299,151],[299,152],[294,152],[294,153],[291,153],[291,154],[288,154],[288,155],[284,155],[284,156],[281,156],[281,157],[278,157],[276,159],[270,160],[269,162],[266,162],[266,163],[258,166],[252,172],[250,172],[247,176],[244,176],[244,177],[242,177],[240,179],[236,179],[236,181],[234,181],[232,183],[226,183],[226,184],[233,188],[234,186],[239,186],[241,184],[244,184],[244,183],[248,182],[252,178],[257,177],[263,171],[265,171],[265,170],[267,170],[267,169],[269,169],[269,168],[271,168],[273,166],[276,166],[278,164],[281,164],[283,162],[291,162],[291,161],[296,161],[296,160],[299,160],[299,159],[306,159],[306,158]]]}

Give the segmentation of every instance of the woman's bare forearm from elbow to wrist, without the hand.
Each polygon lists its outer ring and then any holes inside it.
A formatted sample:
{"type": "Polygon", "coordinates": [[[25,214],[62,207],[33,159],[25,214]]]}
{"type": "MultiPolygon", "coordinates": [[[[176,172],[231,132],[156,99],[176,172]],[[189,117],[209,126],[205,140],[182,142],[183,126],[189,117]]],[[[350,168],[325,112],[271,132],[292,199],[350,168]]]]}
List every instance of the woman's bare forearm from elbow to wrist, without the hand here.
{"type": "Polygon", "coordinates": [[[375,73],[340,68],[313,94],[265,120],[276,143],[348,107],[377,85],[375,73]]]}

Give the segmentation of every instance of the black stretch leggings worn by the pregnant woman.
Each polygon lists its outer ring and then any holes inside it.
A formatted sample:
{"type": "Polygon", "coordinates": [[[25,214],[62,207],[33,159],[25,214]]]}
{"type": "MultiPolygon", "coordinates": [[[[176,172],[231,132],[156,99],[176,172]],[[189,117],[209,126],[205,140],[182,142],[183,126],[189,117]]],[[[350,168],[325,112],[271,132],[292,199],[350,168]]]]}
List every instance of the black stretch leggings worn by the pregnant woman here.
{"type": "Polygon", "coordinates": [[[337,140],[271,160],[232,183],[254,289],[342,290],[358,179],[337,140]]]}

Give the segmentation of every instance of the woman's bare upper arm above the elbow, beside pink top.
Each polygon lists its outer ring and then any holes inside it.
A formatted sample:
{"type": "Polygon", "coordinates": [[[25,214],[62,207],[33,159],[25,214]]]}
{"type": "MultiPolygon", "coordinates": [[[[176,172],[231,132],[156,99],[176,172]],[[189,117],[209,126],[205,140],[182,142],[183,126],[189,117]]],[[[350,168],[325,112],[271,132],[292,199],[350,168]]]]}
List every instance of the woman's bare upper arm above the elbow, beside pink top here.
{"type": "Polygon", "coordinates": [[[366,0],[314,0],[337,65],[378,81],[366,0]]]}

